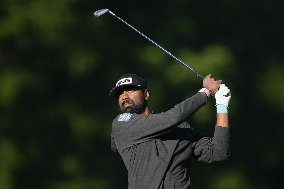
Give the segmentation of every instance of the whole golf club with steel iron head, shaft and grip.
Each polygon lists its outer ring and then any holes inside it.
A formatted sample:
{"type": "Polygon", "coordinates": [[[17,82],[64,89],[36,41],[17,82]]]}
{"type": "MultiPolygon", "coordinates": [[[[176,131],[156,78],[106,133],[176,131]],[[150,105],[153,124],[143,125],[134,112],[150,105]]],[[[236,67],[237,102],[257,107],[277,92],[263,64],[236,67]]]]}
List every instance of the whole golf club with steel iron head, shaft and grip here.
{"type": "Polygon", "coordinates": [[[139,32],[138,30],[136,30],[134,27],[132,27],[130,24],[128,24],[127,22],[125,22],[123,19],[121,19],[120,17],[118,17],[116,14],[114,14],[113,12],[111,12],[109,9],[101,9],[95,12],[95,16],[101,16],[102,14],[109,12],[110,14],[112,14],[113,16],[117,17],[118,19],[120,19],[122,22],[124,22],[126,25],[128,25],[129,27],[131,27],[133,30],[135,30],[136,32],[138,32],[140,35],[142,35],[144,38],[148,39],[149,41],[151,41],[152,43],[154,43],[154,45],[158,46],[159,48],[161,48],[162,50],[164,50],[167,54],[169,54],[170,56],[172,56],[173,58],[175,58],[177,61],[179,61],[180,63],[182,63],[185,67],[187,67],[188,69],[190,69],[196,76],[200,77],[202,80],[204,79],[204,75],[200,74],[198,71],[196,71],[195,69],[191,68],[190,66],[188,66],[186,63],[184,63],[183,61],[181,61],[180,59],[178,59],[176,56],[174,56],[172,53],[170,53],[169,51],[167,51],[166,49],[162,48],[160,45],[158,45],[156,42],[154,42],[153,40],[151,40],[150,38],[148,38],[146,35],[144,35],[143,33],[139,32]]]}

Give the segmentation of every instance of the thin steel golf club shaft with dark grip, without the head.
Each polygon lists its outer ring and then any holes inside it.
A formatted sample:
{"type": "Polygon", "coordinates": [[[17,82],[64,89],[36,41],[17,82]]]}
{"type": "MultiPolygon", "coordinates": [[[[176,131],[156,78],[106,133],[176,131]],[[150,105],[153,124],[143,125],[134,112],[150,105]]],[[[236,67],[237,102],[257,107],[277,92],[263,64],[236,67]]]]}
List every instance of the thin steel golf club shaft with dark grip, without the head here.
{"type": "Polygon", "coordinates": [[[117,17],[118,19],[120,19],[122,22],[124,22],[126,25],[128,25],[129,27],[131,27],[133,30],[135,30],[136,32],[138,32],[140,35],[142,35],[144,38],[148,39],[149,41],[151,41],[152,43],[154,43],[154,45],[158,46],[159,48],[161,48],[162,50],[164,50],[168,55],[172,56],[173,58],[175,58],[177,61],[179,61],[180,63],[182,63],[185,67],[187,67],[188,69],[190,69],[196,76],[200,77],[202,80],[204,79],[204,75],[200,74],[198,71],[196,71],[195,69],[191,68],[190,66],[188,66],[186,63],[184,63],[183,61],[181,61],[180,59],[178,59],[176,56],[174,56],[172,53],[170,53],[169,51],[167,51],[166,49],[164,49],[163,47],[161,47],[160,45],[158,45],[156,42],[154,42],[153,40],[151,40],[150,38],[148,38],[146,35],[144,35],[143,33],[141,33],[140,31],[136,30],[134,27],[132,27],[130,24],[128,24],[127,22],[125,22],[123,19],[121,19],[120,17],[118,17],[116,14],[114,14],[113,12],[109,11],[110,14],[112,14],[113,16],[117,17]]]}

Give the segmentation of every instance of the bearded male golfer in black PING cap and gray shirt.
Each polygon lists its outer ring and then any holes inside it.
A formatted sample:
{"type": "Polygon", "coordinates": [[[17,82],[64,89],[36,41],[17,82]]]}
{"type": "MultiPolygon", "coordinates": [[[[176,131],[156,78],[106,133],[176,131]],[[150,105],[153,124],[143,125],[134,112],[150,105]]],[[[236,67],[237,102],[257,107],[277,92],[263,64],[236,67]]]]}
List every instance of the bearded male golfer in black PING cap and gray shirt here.
{"type": "Polygon", "coordinates": [[[109,93],[118,99],[122,110],[112,122],[111,149],[119,152],[128,170],[128,189],[188,189],[192,158],[211,163],[229,157],[230,90],[210,74],[204,78],[203,87],[167,112],[154,114],[149,109],[151,93],[144,79],[135,74],[118,79],[109,93]],[[217,102],[213,138],[185,122],[210,95],[217,102]]]}

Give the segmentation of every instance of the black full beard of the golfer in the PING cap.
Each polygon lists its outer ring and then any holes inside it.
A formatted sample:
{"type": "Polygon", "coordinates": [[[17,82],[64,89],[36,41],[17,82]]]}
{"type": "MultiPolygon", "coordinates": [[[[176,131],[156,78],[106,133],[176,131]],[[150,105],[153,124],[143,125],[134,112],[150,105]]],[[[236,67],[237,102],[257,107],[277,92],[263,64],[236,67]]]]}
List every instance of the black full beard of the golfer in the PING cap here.
{"type": "Polygon", "coordinates": [[[147,101],[145,100],[145,94],[142,93],[142,98],[141,101],[138,102],[137,104],[134,103],[133,100],[125,100],[122,102],[121,104],[121,111],[122,113],[137,113],[137,114],[141,114],[146,110],[147,107],[147,101]],[[124,107],[125,103],[130,103],[129,106],[124,107]]]}

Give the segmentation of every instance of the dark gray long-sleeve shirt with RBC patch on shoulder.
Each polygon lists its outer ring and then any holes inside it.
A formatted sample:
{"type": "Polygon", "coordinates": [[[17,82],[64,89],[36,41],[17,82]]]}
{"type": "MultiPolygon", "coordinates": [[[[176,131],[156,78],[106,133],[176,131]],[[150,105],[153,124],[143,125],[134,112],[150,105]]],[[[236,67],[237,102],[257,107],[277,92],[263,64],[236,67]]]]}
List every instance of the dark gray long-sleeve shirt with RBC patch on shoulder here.
{"type": "Polygon", "coordinates": [[[215,126],[211,139],[184,122],[205,104],[198,93],[165,113],[125,113],[113,120],[111,149],[128,170],[128,189],[190,188],[192,157],[204,162],[229,157],[230,128],[215,126]]]}

